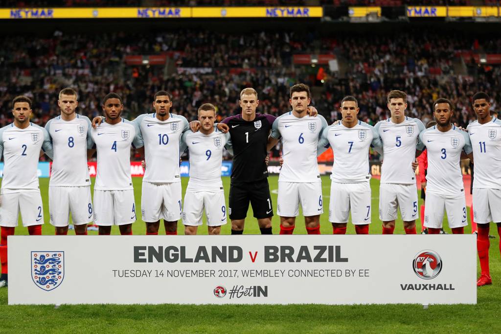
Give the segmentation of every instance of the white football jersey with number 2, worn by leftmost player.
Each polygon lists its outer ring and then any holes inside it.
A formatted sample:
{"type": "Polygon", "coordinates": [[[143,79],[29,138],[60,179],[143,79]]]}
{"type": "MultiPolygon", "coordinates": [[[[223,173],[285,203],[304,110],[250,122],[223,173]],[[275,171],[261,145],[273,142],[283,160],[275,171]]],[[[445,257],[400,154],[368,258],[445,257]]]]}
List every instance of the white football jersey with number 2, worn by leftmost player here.
{"type": "Polygon", "coordinates": [[[0,129],[0,156],[4,155],[2,194],[39,191],[38,160],[40,150],[52,158],[47,130],[30,122],[20,129],[14,123],[0,129]]]}

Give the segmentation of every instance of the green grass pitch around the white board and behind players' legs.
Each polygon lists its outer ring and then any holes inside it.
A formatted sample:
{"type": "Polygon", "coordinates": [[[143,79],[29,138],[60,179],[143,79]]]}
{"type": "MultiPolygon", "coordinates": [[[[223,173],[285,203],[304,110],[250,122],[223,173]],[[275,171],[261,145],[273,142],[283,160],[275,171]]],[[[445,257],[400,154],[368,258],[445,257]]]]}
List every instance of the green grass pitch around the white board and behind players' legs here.
{"type": "MultiPolygon", "coordinates": [[[[322,181],[325,213],[321,216],[321,232],[331,234],[332,227],[328,221],[330,181],[328,177],[323,177],[322,181]]],[[[187,182],[187,178],[182,179],[183,194],[187,182]]],[[[278,177],[270,177],[269,182],[276,211],[278,177]]],[[[54,228],[49,224],[48,183],[49,179],[40,179],[46,222],[43,234],[53,235],[54,228]]],[[[133,178],[133,183],[138,208],[138,220],[133,224],[133,233],[144,235],[145,224],[140,217],[141,179],[133,178]]],[[[229,178],[223,178],[223,185],[227,204],[229,178]]],[[[373,179],[371,188],[370,233],[380,234],[379,181],[373,179]]],[[[250,208],[248,217],[244,233],[259,234],[250,208]]],[[[160,233],[164,233],[162,225],[160,233]]],[[[275,234],[279,231],[279,225],[279,217],[274,216],[275,234]]],[[[298,217],[296,225],[295,234],[306,234],[302,216],[298,217]]],[[[401,219],[396,225],[395,233],[403,234],[401,219]]],[[[229,234],[230,229],[228,220],[221,234],[229,234]]],[[[447,227],[445,230],[450,232],[447,227]]],[[[470,232],[469,226],[465,232],[470,232]]],[[[178,233],[183,234],[181,223],[178,224],[178,233]]],[[[199,228],[198,233],[207,234],[205,225],[199,228]]],[[[353,225],[348,225],[347,233],[355,233],[353,225]]],[[[18,227],[16,234],[28,234],[28,231],[18,227]]],[[[69,234],[74,235],[74,231],[69,234]]],[[[97,232],[90,231],[89,234],[96,235],[97,232]]],[[[117,227],[113,227],[112,234],[119,234],[117,227]]],[[[493,224],[490,234],[496,237],[490,241],[493,284],[478,289],[477,305],[432,305],[427,310],[421,305],[62,305],[55,309],[50,305],[8,306],[7,288],[0,288],[0,333],[35,332],[42,328],[44,332],[500,332],[501,260],[499,237],[493,224]]],[[[92,254],[91,249],[89,254],[92,254]]]]}

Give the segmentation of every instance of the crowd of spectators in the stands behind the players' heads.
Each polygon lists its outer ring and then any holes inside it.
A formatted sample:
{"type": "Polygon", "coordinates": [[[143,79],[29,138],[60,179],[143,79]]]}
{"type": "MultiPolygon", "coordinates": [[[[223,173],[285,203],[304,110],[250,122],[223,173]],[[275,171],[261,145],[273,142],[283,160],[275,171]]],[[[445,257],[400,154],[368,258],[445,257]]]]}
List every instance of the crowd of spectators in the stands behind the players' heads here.
{"type": "Polygon", "coordinates": [[[46,39],[13,35],[0,41],[1,125],[12,121],[11,101],[21,94],[33,97],[33,121],[44,125],[59,114],[57,94],[69,86],[79,91],[79,110],[89,117],[101,113],[100,99],[108,92],[122,95],[127,118],[150,112],[152,96],[161,89],[173,94],[174,113],[192,119],[200,104],[210,102],[224,117],[239,112],[244,87],[257,89],[261,112],[279,115],[290,110],[288,89],[298,82],[312,87],[313,104],[329,121],[340,118],[339,101],[348,94],[359,99],[361,119],[387,118],[386,94],[393,89],[408,93],[408,114],[425,123],[438,97],[452,100],[461,125],[473,117],[475,91],[488,92],[494,109],[501,103],[501,67],[483,64],[481,56],[500,54],[501,39],[488,34],[58,31],[46,39]],[[299,65],[295,56],[305,53],[332,55],[339,68],[299,65]],[[163,55],[163,62],[128,63],[142,55],[163,55]]]}

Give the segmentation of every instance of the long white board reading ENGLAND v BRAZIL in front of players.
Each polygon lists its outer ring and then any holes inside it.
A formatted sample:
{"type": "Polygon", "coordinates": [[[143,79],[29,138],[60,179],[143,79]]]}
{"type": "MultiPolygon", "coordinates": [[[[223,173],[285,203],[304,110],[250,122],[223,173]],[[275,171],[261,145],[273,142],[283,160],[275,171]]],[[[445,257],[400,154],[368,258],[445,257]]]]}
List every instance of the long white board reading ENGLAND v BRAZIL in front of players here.
{"type": "Polygon", "coordinates": [[[9,236],[9,304],[475,304],[474,235],[9,236]]]}

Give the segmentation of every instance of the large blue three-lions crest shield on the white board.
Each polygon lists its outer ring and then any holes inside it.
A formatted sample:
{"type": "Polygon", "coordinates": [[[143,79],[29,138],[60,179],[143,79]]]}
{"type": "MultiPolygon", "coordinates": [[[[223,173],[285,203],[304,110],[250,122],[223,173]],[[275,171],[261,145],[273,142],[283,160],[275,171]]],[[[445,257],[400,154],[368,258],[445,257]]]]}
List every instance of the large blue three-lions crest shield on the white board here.
{"type": "Polygon", "coordinates": [[[54,290],[64,279],[64,252],[31,252],[31,273],[36,286],[54,290]]]}

